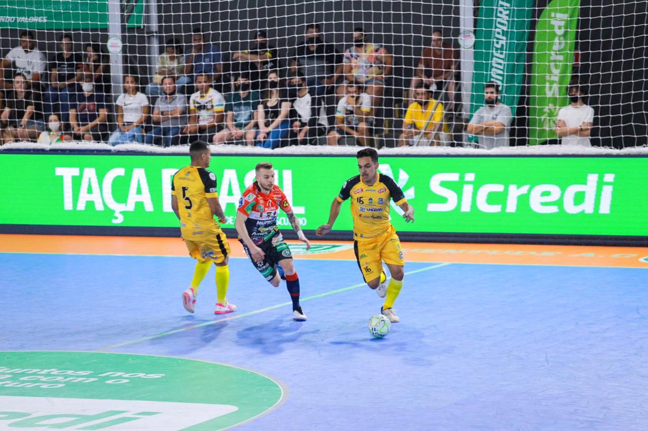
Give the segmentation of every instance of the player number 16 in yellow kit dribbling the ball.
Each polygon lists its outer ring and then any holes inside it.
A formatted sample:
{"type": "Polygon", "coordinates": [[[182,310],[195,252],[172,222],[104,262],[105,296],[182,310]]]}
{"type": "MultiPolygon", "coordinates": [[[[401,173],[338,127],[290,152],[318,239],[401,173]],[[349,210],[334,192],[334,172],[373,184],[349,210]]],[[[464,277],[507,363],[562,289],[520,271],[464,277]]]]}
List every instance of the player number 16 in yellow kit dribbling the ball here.
{"type": "Polygon", "coordinates": [[[391,322],[399,322],[400,318],[392,307],[403,285],[405,261],[399,236],[389,223],[389,200],[393,199],[404,211],[403,218],[408,223],[414,221],[414,208],[393,179],[378,173],[378,152],[375,149],[361,149],[357,157],[360,175],[343,184],[340,195],[330,206],[329,223],[321,225],[316,234],[324,236],[330,232],[342,203],[351,199],[353,246],[358,267],[367,285],[385,298],[380,312],[391,322]],[[391,274],[389,285],[386,285],[386,275],[382,270],[383,261],[391,274]]]}

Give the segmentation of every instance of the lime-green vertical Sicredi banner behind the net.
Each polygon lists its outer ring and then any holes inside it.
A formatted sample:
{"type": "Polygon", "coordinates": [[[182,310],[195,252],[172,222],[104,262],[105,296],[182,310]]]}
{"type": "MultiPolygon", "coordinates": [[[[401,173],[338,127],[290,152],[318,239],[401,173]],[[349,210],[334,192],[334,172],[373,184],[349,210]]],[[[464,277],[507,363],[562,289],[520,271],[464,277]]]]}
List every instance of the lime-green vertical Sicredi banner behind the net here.
{"type": "Polygon", "coordinates": [[[553,0],[542,12],[535,31],[529,145],[556,138],[553,127],[561,107],[569,104],[567,85],[572,76],[580,0],[553,0]]]}

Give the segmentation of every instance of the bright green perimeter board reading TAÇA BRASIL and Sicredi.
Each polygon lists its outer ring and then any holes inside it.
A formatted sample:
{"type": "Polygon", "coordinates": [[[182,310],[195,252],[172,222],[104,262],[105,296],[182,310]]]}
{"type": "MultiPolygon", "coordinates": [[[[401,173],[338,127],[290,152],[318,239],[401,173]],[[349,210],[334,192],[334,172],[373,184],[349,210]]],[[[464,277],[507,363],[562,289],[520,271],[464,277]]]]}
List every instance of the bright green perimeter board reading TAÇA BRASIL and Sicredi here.
{"type": "MultiPolygon", "coordinates": [[[[307,230],[326,223],[330,203],[356,175],[353,157],[219,156],[211,159],[233,228],[238,200],[258,162],[275,166],[276,184],[307,230]]],[[[0,155],[0,224],[178,227],[172,175],[186,156],[0,155]]],[[[646,157],[382,157],[415,208],[401,232],[476,232],[648,236],[646,157]]],[[[290,229],[286,217],[281,228],[290,229]]],[[[352,230],[349,203],[335,230],[352,230]]]]}

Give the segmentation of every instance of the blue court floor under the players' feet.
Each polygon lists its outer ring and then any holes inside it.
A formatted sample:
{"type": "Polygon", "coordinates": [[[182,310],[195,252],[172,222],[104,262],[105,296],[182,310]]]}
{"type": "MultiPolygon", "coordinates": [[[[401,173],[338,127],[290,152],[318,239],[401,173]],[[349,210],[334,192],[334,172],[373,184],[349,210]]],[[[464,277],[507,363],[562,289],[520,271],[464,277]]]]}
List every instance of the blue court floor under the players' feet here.
{"type": "Polygon", "coordinates": [[[201,359],[283,382],[285,402],[242,430],[648,429],[645,269],[408,263],[401,322],[375,339],[382,300],[354,261],[295,261],[307,322],[242,258],[238,311],[213,315],[211,269],[189,315],[193,267],[0,254],[0,350],[201,359]]]}

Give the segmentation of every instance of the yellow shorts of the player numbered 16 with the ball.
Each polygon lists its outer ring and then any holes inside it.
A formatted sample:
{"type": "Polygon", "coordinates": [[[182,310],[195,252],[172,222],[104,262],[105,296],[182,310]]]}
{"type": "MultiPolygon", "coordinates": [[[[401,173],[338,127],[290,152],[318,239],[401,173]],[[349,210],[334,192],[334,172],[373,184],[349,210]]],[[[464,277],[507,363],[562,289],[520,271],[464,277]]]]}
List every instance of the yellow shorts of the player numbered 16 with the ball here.
{"type": "Polygon", "coordinates": [[[383,261],[389,265],[405,265],[400,239],[393,227],[370,241],[354,241],[353,250],[365,283],[380,277],[383,261]]]}

